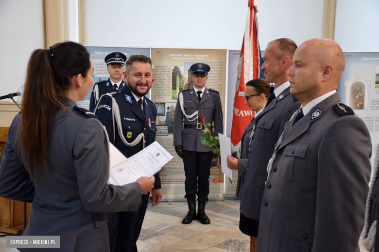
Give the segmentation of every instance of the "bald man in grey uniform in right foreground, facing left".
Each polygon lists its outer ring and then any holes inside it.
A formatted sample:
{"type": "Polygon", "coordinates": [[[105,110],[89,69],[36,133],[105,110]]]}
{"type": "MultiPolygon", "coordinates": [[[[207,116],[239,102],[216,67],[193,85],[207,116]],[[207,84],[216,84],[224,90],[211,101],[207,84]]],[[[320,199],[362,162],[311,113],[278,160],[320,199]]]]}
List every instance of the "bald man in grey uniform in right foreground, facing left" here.
{"type": "Polygon", "coordinates": [[[336,91],[341,47],[311,39],[288,70],[301,102],[268,166],[257,252],[354,252],[363,227],[371,139],[336,91]]]}

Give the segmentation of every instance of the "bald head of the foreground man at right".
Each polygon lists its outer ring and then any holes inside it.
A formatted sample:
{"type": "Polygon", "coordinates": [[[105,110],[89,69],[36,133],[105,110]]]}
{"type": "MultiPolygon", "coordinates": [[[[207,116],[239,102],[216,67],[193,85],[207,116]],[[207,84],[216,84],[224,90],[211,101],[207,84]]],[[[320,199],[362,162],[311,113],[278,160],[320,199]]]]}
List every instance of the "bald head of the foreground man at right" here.
{"type": "Polygon", "coordinates": [[[310,39],[295,51],[288,70],[291,94],[305,106],[311,100],[337,89],[345,69],[341,47],[330,39],[310,39]]]}

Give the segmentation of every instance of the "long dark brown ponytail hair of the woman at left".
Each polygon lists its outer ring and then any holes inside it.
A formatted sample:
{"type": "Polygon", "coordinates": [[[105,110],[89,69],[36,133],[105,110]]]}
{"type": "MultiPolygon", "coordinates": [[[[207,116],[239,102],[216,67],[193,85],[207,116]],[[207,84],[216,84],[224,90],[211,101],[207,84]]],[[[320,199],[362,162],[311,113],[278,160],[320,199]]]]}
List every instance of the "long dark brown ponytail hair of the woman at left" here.
{"type": "Polygon", "coordinates": [[[34,170],[42,177],[42,171],[48,174],[52,115],[60,108],[66,109],[65,96],[71,78],[77,74],[86,77],[90,65],[86,47],[74,42],[58,43],[32,53],[22,97],[20,139],[33,176],[34,170]]]}

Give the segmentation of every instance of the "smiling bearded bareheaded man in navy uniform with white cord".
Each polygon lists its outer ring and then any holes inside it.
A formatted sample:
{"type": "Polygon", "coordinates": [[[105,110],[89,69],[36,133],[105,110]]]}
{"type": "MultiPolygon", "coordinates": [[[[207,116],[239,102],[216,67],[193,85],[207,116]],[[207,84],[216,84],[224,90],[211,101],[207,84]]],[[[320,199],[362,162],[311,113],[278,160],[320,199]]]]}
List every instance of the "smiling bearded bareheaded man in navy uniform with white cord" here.
{"type": "MultiPolygon", "coordinates": [[[[154,103],[145,97],[153,85],[151,59],[144,55],[131,55],[125,63],[123,77],[126,85],[120,90],[103,95],[95,108],[95,114],[105,126],[109,141],[126,157],[131,157],[155,141],[156,108],[154,103]],[[121,122],[114,116],[115,111],[120,115],[121,122]],[[138,141],[139,135],[144,138],[138,141]]],[[[107,214],[111,252],[138,251],[136,242],[148,199],[154,206],[162,198],[159,173],[154,176],[152,197],[149,197],[149,193],[142,195],[137,212],[107,214]]]]}

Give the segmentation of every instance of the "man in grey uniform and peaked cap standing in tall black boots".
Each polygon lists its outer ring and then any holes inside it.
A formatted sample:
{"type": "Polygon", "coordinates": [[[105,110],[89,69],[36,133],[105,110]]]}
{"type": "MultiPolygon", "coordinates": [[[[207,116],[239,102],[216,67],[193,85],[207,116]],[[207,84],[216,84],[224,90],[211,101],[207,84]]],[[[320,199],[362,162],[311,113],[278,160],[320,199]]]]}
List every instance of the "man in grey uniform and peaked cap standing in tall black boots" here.
{"type": "Polygon", "coordinates": [[[192,220],[198,219],[203,224],[209,224],[205,206],[208,201],[208,179],[213,152],[201,143],[200,137],[206,135],[201,131],[204,128],[197,122],[197,118],[203,117],[205,124],[213,124],[214,128],[212,126],[210,132],[218,136],[224,130],[223,111],[219,92],[205,86],[210,71],[209,65],[196,63],[190,70],[193,87],[179,93],[173,122],[173,145],[178,156],[183,158],[186,174],[185,198],[189,211],[182,223],[189,224],[192,220]]]}

